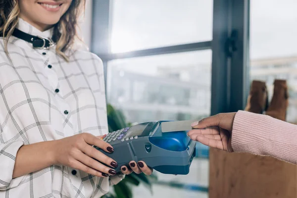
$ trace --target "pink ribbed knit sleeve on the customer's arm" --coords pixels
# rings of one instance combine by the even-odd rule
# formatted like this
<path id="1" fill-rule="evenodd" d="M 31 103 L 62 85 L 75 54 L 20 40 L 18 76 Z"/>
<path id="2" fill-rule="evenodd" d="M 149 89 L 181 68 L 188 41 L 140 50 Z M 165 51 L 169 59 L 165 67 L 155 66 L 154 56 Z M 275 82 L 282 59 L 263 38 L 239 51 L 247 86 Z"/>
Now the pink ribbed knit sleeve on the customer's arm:
<path id="1" fill-rule="evenodd" d="M 269 155 L 297 164 L 297 125 L 238 111 L 233 123 L 232 148 L 235 152 Z"/>

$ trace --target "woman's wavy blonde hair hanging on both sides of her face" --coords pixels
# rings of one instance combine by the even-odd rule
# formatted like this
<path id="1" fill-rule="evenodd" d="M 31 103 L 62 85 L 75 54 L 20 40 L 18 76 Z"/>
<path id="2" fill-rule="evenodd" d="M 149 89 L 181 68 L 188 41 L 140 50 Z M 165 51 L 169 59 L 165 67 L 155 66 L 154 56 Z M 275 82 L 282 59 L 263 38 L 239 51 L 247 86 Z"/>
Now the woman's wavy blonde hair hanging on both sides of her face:
<path id="1" fill-rule="evenodd" d="M 78 37 L 77 24 L 85 10 L 85 4 L 86 0 L 72 0 L 68 10 L 53 26 L 51 39 L 56 43 L 56 52 L 65 60 L 68 60 L 65 51 L 71 49 L 77 39 L 81 40 Z M 8 54 L 8 39 L 17 27 L 19 13 L 18 0 L 0 0 L 0 35 L 4 39 L 6 54 Z"/>

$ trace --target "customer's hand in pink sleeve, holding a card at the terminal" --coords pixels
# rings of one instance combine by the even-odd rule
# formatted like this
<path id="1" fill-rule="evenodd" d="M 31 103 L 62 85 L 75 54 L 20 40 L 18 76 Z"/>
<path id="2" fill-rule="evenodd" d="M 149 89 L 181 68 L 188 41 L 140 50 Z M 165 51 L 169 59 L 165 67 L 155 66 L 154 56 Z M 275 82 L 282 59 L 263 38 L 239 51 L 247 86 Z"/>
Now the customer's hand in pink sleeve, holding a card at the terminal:
<path id="1" fill-rule="evenodd" d="M 231 134 L 236 113 L 220 113 L 192 123 L 188 136 L 203 145 L 233 152 Z M 200 130 L 197 130 L 200 129 Z"/>

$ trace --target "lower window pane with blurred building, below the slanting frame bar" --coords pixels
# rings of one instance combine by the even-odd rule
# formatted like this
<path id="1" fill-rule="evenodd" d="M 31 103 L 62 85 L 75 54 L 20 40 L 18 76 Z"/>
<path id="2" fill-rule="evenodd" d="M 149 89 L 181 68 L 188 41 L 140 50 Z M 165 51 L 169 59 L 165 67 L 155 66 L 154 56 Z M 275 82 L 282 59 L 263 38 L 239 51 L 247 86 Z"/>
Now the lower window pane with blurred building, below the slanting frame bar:
<path id="1" fill-rule="evenodd" d="M 199 50 L 108 62 L 107 101 L 122 109 L 128 122 L 191 120 L 210 115 L 212 51 Z M 188 175 L 157 173 L 153 196 L 207 198 L 208 148 L 197 144 Z M 173 182 L 173 183 L 172 183 Z M 185 189 L 191 189 L 185 190 Z"/>

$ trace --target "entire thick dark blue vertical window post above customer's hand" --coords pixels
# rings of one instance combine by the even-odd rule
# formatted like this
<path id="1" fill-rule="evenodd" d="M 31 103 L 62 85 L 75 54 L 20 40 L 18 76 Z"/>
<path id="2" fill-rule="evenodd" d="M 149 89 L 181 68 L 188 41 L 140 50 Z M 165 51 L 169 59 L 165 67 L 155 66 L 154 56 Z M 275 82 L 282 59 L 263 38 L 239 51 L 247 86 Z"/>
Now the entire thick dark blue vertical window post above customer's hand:
<path id="1" fill-rule="evenodd" d="M 249 0 L 214 0 L 211 114 L 244 109 L 249 88 Z M 236 32 L 233 51 L 227 49 Z"/>

